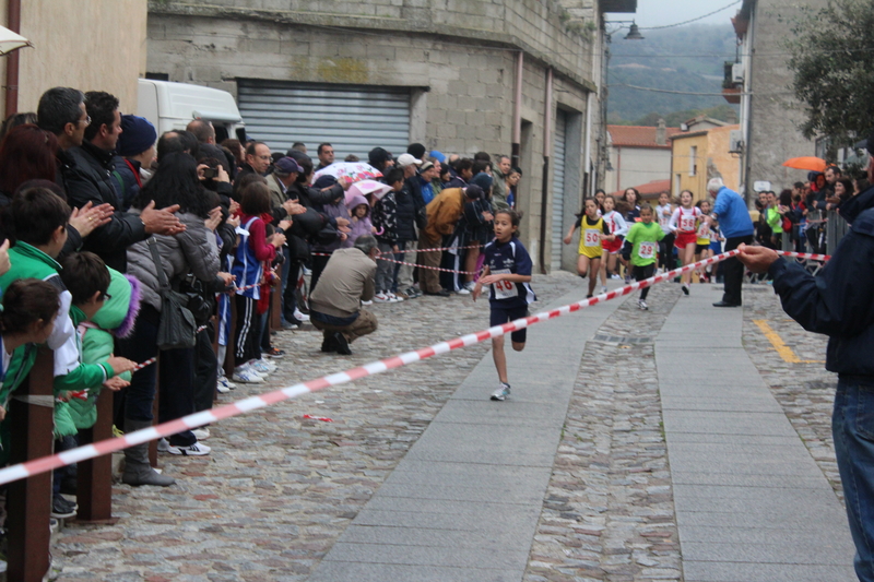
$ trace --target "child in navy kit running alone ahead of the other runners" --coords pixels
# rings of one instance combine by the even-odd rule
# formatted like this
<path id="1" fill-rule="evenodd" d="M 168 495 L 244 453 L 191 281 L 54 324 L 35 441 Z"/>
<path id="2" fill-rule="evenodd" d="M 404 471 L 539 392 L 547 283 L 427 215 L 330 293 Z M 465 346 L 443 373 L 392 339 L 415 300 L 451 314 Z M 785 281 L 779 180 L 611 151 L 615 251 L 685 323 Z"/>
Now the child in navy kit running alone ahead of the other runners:
<path id="1" fill-rule="evenodd" d="M 536 300 L 531 282 L 531 257 L 522 242 L 516 237 L 519 230 L 519 215 L 512 210 L 501 210 L 495 214 L 495 239 L 483 249 L 483 274 L 473 287 L 475 301 L 488 285 L 489 325 L 528 317 L 528 306 Z M 510 334 L 512 348 L 521 352 L 525 347 L 527 329 Z M 507 357 L 504 355 L 504 336 L 492 338 L 492 357 L 498 371 L 498 389 L 492 400 L 503 401 L 510 395 L 507 383 Z"/>

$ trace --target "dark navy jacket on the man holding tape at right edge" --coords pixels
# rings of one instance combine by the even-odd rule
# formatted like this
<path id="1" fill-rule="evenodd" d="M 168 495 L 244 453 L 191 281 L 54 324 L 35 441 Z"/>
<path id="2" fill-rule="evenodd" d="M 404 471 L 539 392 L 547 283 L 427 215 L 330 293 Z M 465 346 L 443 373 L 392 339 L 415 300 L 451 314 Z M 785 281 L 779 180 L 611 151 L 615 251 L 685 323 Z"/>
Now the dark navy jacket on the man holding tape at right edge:
<path id="1" fill-rule="evenodd" d="M 826 369 L 874 382 L 874 187 L 845 201 L 840 214 L 852 226 L 816 276 L 782 258 L 768 273 L 783 310 L 828 335 Z"/>

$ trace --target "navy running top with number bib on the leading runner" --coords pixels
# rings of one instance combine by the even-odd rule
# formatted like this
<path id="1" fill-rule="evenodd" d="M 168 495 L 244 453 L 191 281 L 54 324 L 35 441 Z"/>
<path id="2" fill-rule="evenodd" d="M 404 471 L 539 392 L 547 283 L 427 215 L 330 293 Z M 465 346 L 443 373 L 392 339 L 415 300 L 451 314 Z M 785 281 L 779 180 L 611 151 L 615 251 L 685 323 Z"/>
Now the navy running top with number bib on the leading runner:
<path id="1" fill-rule="evenodd" d="M 488 266 L 489 275 L 531 275 L 533 264 L 522 242 L 512 237 L 507 242 L 493 239 L 483 249 L 483 264 Z M 528 307 L 536 300 L 534 289 L 529 283 L 499 281 L 489 285 L 488 302 L 496 307 Z"/>

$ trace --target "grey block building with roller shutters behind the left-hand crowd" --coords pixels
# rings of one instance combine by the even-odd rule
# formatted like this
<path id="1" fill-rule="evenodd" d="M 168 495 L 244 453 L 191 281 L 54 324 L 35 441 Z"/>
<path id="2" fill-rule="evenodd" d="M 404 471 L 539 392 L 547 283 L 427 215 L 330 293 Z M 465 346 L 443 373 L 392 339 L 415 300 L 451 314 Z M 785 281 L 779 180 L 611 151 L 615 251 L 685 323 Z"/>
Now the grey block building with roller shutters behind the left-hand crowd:
<path id="1" fill-rule="evenodd" d="M 601 4 L 634 11 L 636 0 Z M 310 153 L 320 141 L 338 142 L 338 156 L 366 157 L 377 145 L 397 156 L 410 142 L 447 154 L 516 153 L 521 238 L 540 270 L 572 269 L 554 234 L 597 179 L 603 8 L 598 0 L 154 1 L 147 71 L 229 91 L 248 133 L 274 151 L 299 139 Z M 362 127 L 369 129 L 356 136 Z"/>

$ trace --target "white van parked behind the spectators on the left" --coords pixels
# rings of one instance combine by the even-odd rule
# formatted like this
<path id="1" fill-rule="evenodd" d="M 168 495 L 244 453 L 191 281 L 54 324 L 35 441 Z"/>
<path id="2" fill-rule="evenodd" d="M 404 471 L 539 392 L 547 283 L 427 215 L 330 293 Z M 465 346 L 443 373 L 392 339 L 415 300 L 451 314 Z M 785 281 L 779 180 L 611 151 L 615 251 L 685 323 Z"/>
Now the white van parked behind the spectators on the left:
<path id="1" fill-rule="evenodd" d="M 155 126 L 157 134 L 185 129 L 193 119 L 212 121 L 215 142 L 228 138 L 245 139 L 245 123 L 234 97 L 226 91 L 140 79 L 138 115 Z"/>

